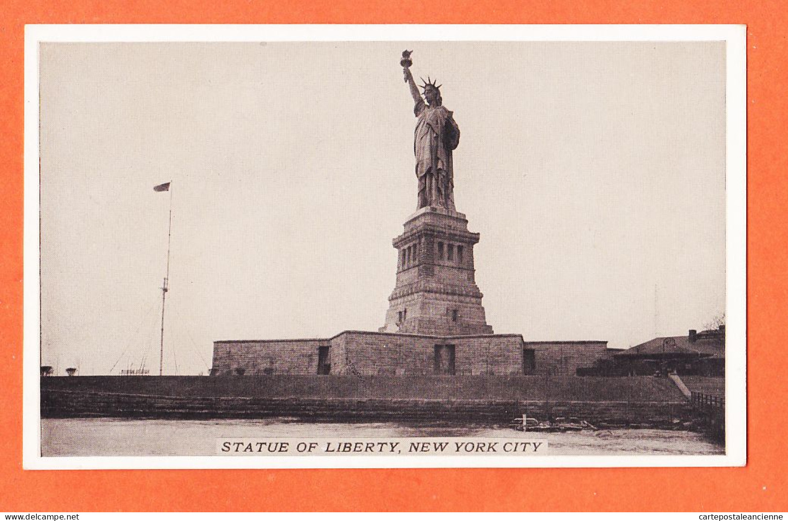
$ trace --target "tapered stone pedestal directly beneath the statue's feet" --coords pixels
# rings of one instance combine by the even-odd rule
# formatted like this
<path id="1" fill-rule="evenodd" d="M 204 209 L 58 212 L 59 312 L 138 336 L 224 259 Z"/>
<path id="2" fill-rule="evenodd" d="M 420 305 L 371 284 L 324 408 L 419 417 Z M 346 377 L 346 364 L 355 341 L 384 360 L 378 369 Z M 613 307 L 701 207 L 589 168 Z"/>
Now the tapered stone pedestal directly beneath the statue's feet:
<path id="1" fill-rule="evenodd" d="M 408 218 L 393 241 L 396 286 L 380 331 L 411 334 L 492 334 L 474 278 L 474 245 L 465 215 L 427 206 Z"/>

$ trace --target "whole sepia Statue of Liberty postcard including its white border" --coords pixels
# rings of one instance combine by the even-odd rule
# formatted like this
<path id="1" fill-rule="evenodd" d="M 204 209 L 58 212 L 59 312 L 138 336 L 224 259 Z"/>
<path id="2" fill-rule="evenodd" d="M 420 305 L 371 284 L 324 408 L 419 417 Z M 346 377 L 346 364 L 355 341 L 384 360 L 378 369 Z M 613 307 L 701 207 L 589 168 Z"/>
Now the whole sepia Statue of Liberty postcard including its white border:
<path id="1" fill-rule="evenodd" d="M 26 468 L 745 464 L 743 26 L 28 26 Z"/>

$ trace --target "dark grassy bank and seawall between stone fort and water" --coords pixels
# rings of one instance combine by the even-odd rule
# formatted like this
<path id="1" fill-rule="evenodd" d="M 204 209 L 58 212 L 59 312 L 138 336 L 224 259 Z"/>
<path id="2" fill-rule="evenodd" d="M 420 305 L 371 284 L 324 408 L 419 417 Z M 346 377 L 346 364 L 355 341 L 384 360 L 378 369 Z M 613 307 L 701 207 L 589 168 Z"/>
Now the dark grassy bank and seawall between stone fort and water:
<path id="1" fill-rule="evenodd" d="M 693 410 L 667 379 L 573 376 L 82 376 L 41 379 L 44 418 L 268 418 L 501 423 L 527 413 L 675 425 Z"/>

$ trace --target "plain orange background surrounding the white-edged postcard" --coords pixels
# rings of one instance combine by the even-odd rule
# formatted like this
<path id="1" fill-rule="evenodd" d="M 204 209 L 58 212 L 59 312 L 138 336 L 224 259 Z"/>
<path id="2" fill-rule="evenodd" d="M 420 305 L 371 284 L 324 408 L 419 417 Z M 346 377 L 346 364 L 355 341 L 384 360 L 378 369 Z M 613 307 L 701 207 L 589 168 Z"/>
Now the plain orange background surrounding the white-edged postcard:
<path id="1" fill-rule="evenodd" d="M 0 510 L 788 510 L 784 2 L 4 2 Z M 747 24 L 749 463 L 742 468 L 22 471 L 24 24 Z M 34 188 L 35 189 L 35 188 Z"/>

